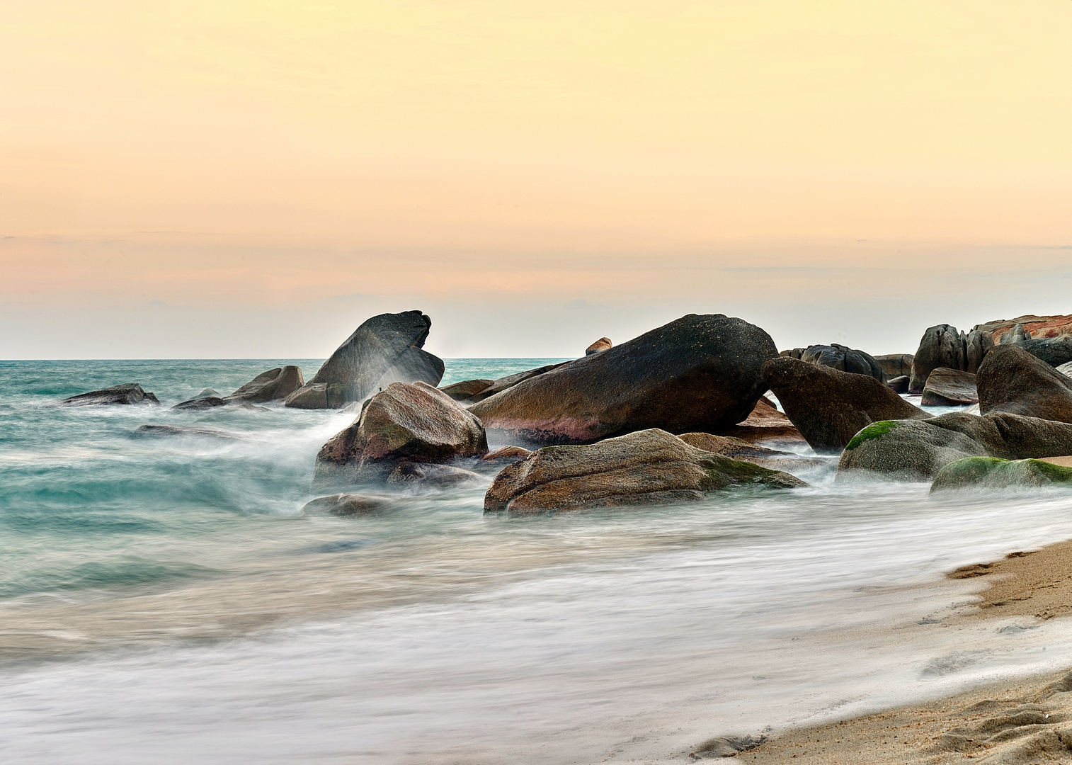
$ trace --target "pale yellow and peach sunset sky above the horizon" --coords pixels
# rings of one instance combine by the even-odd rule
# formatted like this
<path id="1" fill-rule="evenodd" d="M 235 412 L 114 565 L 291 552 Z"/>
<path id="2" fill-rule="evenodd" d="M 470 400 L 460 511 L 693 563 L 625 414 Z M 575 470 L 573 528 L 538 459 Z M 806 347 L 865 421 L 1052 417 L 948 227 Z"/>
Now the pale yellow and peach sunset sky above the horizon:
<path id="1" fill-rule="evenodd" d="M 1072 312 L 1072 0 L 2 9 L 0 358 Z"/>

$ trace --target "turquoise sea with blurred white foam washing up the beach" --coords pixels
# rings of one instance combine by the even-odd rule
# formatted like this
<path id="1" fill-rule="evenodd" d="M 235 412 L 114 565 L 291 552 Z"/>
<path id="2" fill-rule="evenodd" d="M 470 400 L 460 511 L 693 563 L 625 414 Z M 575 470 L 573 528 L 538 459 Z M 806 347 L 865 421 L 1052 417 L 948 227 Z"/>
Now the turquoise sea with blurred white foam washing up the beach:
<path id="1" fill-rule="evenodd" d="M 353 414 L 170 410 L 322 361 L 0 362 L 0 759 L 682 762 L 1072 664 L 1061 620 L 949 623 L 981 585 L 943 578 L 1067 539 L 1056 489 L 831 465 L 669 507 L 486 516 L 477 488 L 307 516 Z M 443 384 L 556 361 L 446 359 Z M 55 406 L 122 382 L 163 406 Z"/>

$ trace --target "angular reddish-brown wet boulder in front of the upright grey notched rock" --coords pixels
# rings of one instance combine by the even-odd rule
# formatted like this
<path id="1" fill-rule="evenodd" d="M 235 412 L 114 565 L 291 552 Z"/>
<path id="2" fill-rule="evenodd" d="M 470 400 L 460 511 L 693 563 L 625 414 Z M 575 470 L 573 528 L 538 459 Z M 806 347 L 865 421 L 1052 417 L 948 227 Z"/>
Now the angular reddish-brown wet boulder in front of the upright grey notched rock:
<path id="1" fill-rule="evenodd" d="M 422 382 L 392 383 L 316 455 L 314 486 L 384 483 L 400 462 L 446 462 L 488 453 L 480 421 Z"/>

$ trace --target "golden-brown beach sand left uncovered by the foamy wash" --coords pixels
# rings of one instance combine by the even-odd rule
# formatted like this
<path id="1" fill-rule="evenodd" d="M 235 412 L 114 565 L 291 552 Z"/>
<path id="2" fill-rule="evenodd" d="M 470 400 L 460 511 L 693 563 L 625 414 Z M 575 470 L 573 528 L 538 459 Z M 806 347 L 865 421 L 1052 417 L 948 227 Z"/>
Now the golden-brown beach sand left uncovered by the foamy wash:
<path id="1" fill-rule="evenodd" d="M 1072 616 L 1072 541 L 966 565 L 950 578 L 987 577 L 981 600 L 953 617 L 971 621 Z M 755 745 L 712 739 L 691 759 L 735 754 L 747 763 L 819 765 L 1072 762 L 1072 672 L 976 688 L 936 702 L 787 731 Z"/>

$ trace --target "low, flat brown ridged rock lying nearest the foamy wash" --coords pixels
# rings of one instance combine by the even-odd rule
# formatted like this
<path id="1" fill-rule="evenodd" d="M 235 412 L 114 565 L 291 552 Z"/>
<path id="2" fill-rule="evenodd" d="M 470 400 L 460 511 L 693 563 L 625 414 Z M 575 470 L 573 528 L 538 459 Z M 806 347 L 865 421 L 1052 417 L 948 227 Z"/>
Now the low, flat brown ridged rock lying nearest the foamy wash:
<path id="1" fill-rule="evenodd" d="M 700 500 L 730 486 L 806 485 L 787 473 L 704 452 L 652 428 L 586 446 L 534 452 L 495 477 L 483 510 L 533 513 L 672 504 Z"/>

